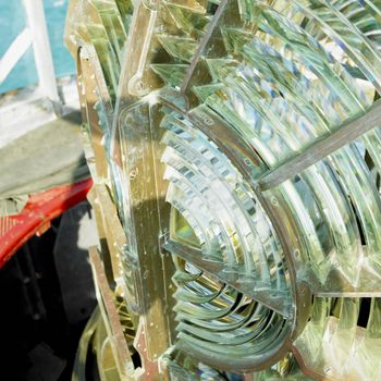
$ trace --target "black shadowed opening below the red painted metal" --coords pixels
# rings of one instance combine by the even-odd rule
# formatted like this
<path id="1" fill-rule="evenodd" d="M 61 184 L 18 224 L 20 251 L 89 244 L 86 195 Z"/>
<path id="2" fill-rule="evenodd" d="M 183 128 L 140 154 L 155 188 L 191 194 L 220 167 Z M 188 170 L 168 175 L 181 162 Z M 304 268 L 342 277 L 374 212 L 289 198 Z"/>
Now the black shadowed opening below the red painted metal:
<path id="1" fill-rule="evenodd" d="M 96 305 L 81 202 L 29 239 L 0 271 L 3 380 L 71 380 L 82 331 Z M 7 374 L 7 376 L 5 376 Z"/>

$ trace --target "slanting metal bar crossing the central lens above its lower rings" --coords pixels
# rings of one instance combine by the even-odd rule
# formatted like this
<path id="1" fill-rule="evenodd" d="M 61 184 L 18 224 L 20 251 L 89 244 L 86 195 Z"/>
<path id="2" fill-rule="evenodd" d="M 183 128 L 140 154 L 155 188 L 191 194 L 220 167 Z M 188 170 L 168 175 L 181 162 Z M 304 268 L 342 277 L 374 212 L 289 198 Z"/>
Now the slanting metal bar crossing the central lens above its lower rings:
<path id="1" fill-rule="evenodd" d="M 169 241 L 162 245 L 163 249 L 176 255 L 184 260 L 198 267 L 201 271 L 211 274 L 219 279 L 222 283 L 230 285 L 236 291 L 245 294 L 251 299 L 262 304 L 263 306 L 272 309 L 273 311 L 282 315 L 286 319 L 292 318 L 291 300 L 284 292 L 279 290 L 256 290 L 253 283 L 239 282 L 238 280 L 232 281 L 228 279 L 228 274 L 224 274 L 223 263 L 211 262 L 204 260 L 201 251 L 195 247 L 184 245 L 179 242 Z"/>

